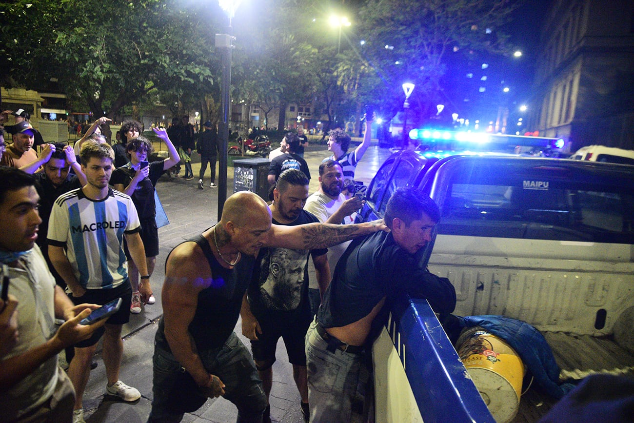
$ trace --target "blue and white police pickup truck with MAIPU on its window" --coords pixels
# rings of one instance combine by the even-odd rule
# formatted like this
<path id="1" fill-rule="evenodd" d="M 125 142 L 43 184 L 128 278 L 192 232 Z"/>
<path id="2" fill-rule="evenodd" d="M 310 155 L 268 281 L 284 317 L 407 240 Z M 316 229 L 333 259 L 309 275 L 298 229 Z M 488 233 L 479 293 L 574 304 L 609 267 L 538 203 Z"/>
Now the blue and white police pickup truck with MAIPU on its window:
<path id="1" fill-rule="evenodd" d="M 396 188 L 421 188 L 441 221 L 420 265 L 451 280 L 456 315 L 533 325 L 562 380 L 633 375 L 634 167 L 426 156 L 389 157 L 368 186 L 363 218 L 381 218 Z M 373 345 L 376 421 L 495 422 L 427 301 L 406 303 Z M 556 402 L 529 384 L 511 421 L 537 421 Z"/>

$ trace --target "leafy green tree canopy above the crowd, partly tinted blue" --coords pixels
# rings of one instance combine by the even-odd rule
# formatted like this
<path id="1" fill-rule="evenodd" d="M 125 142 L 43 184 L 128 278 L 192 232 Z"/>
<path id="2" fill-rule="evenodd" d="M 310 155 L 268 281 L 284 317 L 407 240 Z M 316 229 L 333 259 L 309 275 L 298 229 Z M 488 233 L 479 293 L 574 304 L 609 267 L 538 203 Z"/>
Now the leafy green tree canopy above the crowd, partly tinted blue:
<path id="1" fill-rule="evenodd" d="M 280 125 L 289 103 L 312 104 L 330 122 L 358 121 L 367 103 L 385 117 L 396 114 L 401 84 L 411 81 L 417 86 L 413 107 L 425 112 L 453 95 L 445 89 L 455 86 L 448 79 L 465 60 L 480 52 L 507 53 L 499 29 L 514 3 L 250 3 L 242 11 L 250 20 L 236 32 L 232 99 L 266 114 L 279 108 Z M 352 25 L 330 27 L 330 13 L 350 16 Z M 141 101 L 173 109 L 202 104 L 210 116 L 219 103 L 220 58 L 213 40 L 224 31 L 226 16 L 217 4 L 18 0 L 0 3 L 0 14 L 10 23 L 0 28 L 4 86 L 41 86 L 55 78 L 68 98 L 96 116 Z"/>

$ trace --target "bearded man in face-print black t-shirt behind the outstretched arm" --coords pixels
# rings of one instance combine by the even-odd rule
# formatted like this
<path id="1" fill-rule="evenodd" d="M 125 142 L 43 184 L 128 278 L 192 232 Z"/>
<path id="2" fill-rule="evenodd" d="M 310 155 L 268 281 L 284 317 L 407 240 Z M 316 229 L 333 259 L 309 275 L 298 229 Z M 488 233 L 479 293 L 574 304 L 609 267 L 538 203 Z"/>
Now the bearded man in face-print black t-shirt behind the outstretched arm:
<path id="1" fill-rule="evenodd" d="M 308 197 L 308 178 L 302 171 L 281 172 L 273 189 L 273 223 L 304 225 L 318 222 L 303 207 Z M 251 340 L 257 373 L 268 401 L 273 385 L 273 363 L 278 339 L 282 337 L 293 365 L 293 377 L 299 390 L 301 410 L 308 421 L 308 386 L 304 336 L 313 320 L 308 301 L 308 256 L 313 263 L 321 292 L 330 282 L 327 249 L 294 250 L 262 248 L 256 259 L 249 289 L 242 301 L 242 334 Z M 269 422 L 270 405 L 262 421 Z"/>

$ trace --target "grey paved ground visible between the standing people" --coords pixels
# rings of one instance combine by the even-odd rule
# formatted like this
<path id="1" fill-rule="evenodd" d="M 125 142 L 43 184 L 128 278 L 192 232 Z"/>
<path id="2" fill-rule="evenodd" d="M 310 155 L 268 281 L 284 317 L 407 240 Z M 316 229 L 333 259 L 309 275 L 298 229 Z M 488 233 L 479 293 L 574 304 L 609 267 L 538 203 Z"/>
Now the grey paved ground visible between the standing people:
<path id="1" fill-rule="evenodd" d="M 373 144 L 366 152 L 357 168 L 357 179 L 366 185 L 377 172 L 390 152 Z M 327 157 L 325 146 L 310 146 L 304 155 L 311 170 L 310 192 L 318 188 L 318 167 Z M 194 154 L 193 172 L 197 176 L 200 169 L 199 159 Z M 183 169 L 184 170 L 184 169 Z M 182 171 L 181 170 L 181 174 Z M 120 379 L 136 387 L 141 399 L 135 403 L 124 403 L 117 397 L 106 394 L 106 375 L 100 353 L 95 361 L 98 367 L 91 372 L 84 393 L 84 411 L 87 422 L 145 422 L 150 414 L 152 401 L 152 354 L 157 323 L 162 315 L 161 293 L 165 276 L 164 264 L 167 254 L 176 245 L 193 235 L 201 233 L 216 223 L 217 188 L 209 188 L 209 170 L 204 181 L 204 190 L 198 189 L 198 178 L 185 181 L 181 178 L 162 177 L 157 184 L 157 192 L 170 220 L 170 224 L 159 229 L 160 252 L 157 266 L 152 275 L 152 289 L 157 298 L 156 304 L 145 306 L 139 315 L 131 315 L 130 322 L 124 326 L 124 356 Z M 217 183 L 217 181 L 216 181 Z M 233 192 L 233 169 L 228 169 L 228 195 Z M 242 342 L 250 346 L 242 336 L 241 323 L 238 320 L 235 329 Z M 63 353 L 60 355 L 63 361 Z M 273 389 L 271 390 L 271 419 L 276 422 L 303 422 L 299 409 L 300 397 L 295 387 L 292 366 L 288 363 L 283 342 L 280 339 L 277 349 L 277 361 L 273 365 Z M 183 422 L 228 423 L 235 422 L 237 410 L 224 398 L 208 400 L 197 412 L 187 414 Z"/>

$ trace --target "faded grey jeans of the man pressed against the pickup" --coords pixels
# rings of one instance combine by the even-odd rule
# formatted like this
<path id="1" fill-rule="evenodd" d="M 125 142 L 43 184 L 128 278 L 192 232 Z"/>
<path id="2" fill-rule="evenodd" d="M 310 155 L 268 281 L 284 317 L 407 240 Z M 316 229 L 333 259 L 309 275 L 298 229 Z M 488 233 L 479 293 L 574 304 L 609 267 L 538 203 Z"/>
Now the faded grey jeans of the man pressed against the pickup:
<path id="1" fill-rule="evenodd" d="M 328 342 L 317 333 L 313 320 L 306 334 L 308 403 L 311 422 L 357 422 L 363 418 L 358 404 L 361 355 L 327 350 Z M 363 408 L 363 407 L 361 407 Z"/>

